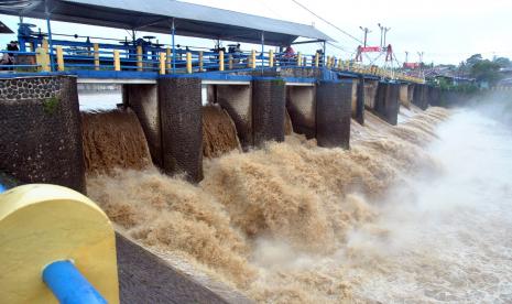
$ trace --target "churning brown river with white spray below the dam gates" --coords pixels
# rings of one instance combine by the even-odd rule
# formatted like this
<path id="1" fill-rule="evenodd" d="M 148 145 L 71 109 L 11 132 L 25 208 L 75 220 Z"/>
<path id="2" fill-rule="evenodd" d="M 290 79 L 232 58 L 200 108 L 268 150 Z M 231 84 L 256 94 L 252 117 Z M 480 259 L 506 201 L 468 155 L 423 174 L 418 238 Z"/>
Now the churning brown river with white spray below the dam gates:
<path id="1" fill-rule="evenodd" d="M 199 185 L 149 165 L 90 173 L 88 194 L 120 232 L 257 302 L 512 302 L 512 128 L 492 110 L 401 111 L 399 127 L 352 122 L 350 151 L 293 134 L 205 159 Z M 118 133 L 85 132 L 90 151 Z M 111 163 L 117 146 L 134 144 Z"/>

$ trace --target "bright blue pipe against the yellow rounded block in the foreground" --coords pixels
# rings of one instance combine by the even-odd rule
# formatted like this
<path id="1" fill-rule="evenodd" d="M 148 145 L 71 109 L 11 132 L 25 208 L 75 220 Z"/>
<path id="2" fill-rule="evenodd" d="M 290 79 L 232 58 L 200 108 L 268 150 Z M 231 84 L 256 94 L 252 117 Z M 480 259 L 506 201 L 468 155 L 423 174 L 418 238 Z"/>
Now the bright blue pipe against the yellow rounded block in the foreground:
<path id="1" fill-rule="evenodd" d="M 56 261 L 46 265 L 43 281 L 61 304 L 108 303 L 70 261 Z"/>

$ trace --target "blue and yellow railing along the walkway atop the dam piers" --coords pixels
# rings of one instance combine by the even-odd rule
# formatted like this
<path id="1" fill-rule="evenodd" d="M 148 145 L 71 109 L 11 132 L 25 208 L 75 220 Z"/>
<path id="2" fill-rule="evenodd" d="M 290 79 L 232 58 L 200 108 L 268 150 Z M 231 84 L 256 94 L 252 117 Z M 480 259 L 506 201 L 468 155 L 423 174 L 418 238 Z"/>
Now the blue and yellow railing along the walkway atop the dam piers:
<path id="1" fill-rule="evenodd" d="M 232 50 L 231 50 L 232 51 Z M 10 53 L 14 57 L 11 65 L 0 69 L 13 72 L 52 70 L 111 70 L 150 72 L 157 74 L 192 74 L 213 70 L 240 70 L 265 67 L 326 67 L 335 72 L 349 72 L 372 75 L 380 78 L 423 83 L 421 78 L 407 76 L 392 69 L 361 65 L 353 61 L 342 61 L 323 54 L 286 52 L 257 52 L 224 50 L 198 51 L 162 45 L 133 45 L 131 42 L 90 43 L 54 40 L 52 46 L 43 40 L 32 52 L 0 51 L 0 56 Z"/>

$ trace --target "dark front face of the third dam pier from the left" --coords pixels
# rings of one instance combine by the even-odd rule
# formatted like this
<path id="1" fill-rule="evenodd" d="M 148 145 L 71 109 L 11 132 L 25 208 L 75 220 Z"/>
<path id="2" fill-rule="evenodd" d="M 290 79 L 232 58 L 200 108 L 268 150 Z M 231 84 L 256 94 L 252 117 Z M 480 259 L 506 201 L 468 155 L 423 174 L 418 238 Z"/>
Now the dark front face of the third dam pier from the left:
<path id="1" fill-rule="evenodd" d="M 252 128 L 254 145 L 284 141 L 286 90 L 283 80 L 252 82 Z"/>

